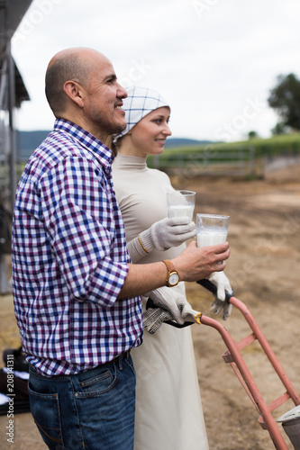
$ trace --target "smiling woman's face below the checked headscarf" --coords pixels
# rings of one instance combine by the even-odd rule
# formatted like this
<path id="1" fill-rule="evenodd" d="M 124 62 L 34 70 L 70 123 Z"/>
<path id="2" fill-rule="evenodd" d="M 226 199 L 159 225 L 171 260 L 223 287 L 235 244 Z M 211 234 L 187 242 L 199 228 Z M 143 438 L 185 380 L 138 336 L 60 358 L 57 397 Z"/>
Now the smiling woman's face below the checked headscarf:
<path id="1" fill-rule="evenodd" d="M 132 154 L 137 157 L 160 155 L 171 130 L 168 128 L 169 109 L 162 106 L 147 114 L 130 131 Z"/>

